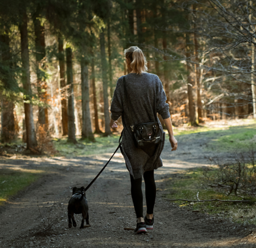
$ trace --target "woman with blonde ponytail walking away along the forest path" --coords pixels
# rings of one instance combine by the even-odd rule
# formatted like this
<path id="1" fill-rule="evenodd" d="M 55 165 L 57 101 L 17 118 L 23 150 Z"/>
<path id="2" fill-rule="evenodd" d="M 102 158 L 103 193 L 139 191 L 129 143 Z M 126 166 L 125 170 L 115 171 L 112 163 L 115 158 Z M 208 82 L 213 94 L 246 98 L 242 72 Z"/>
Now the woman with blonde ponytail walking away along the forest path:
<path id="1" fill-rule="evenodd" d="M 146 59 L 138 47 L 125 50 L 130 74 L 117 81 L 111 103 L 110 127 L 117 128 L 122 116 L 122 155 L 130 172 L 131 197 L 137 216 L 134 233 L 146 233 L 153 229 L 156 186 L 154 169 L 161 167 L 161 152 L 165 144 L 165 132 L 158 120 L 159 113 L 169 132 L 171 151 L 178 147 L 173 135 L 169 105 L 162 83 L 157 75 L 147 73 Z M 147 213 L 143 218 L 142 176 L 145 181 Z"/>

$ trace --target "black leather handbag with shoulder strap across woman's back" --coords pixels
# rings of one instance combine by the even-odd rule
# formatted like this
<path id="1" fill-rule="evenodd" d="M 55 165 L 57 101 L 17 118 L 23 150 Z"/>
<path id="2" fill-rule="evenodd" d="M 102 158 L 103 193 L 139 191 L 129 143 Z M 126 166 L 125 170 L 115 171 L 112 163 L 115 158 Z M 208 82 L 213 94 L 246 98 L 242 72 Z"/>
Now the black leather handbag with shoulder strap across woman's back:
<path id="1" fill-rule="evenodd" d="M 123 77 L 123 88 L 125 92 L 125 99 L 128 107 L 128 118 L 129 123 L 131 124 L 131 131 L 134 135 L 134 143 L 136 147 L 138 148 L 145 148 L 145 147 L 151 147 L 153 145 L 157 145 L 161 143 L 163 131 L 159 127 L 159 123 L 157 120 L 157 116 L 155 116 L 154 121 L 149 121 L 147 123 L 141 123 L 137 125 L 133 125 L 131 123 L 131 117 L 130 117 L 130 109 L 129 109 L 129 101 L 127 100 L 127 90 L 126 90 L 126 82 L 125 82 L 125 76 Z M 156 111 L 154 113 L 156 115 Z"/>

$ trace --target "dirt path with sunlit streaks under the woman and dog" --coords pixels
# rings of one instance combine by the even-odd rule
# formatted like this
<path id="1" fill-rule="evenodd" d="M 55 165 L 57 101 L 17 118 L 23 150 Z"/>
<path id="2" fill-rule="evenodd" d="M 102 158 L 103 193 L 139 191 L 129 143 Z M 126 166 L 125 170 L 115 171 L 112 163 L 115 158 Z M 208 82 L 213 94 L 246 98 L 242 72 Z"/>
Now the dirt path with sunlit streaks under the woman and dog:
<path id="1" fill-rule="evenodd" d="M 255 138 L 255 123 L 250 121 L 177 129 L 178 150 L 171 152 L 166 142 L 161 156 L 164 166 L 155 170 L 154 230 L 142 235 L 124 230 L 134 227 L 136 218 L 129 172 L 120 152 L 86 193 L 91 227 L 79 229 L 80 215 L 75 216 L 76 228 L 67 225 L 71 187 L 86 186 L 109 160 L 114 147 L 86 156 L 1 156 L 0 172 L 21 170 L 43 176 L 0 206 L 0 247 L 256 247 L 254 225 L 192 212 L 165 201 L 172 174 L 207 166 L 216 153 L 231 156 L 229 149 L 235 147 L 230 140 L 245 135 L 239 125 L 248 129 L 243 132 L 249 139 Z M 243 144 L 242 139 L 239 142 Z"/>

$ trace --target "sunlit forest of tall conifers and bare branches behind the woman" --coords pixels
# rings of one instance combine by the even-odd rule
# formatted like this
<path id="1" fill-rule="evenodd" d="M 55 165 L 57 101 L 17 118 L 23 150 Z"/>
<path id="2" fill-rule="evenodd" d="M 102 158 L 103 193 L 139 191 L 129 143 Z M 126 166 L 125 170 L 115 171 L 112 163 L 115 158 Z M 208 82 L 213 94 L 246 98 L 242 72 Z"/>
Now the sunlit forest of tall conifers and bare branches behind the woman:
<path id="1" fill-rule="evenodd" d="M 37 153 L 46 136 L 110 135 L 130 46 L 161 79 L 175 127 L 255 119 L 255 8 L 244 0 L 1 1 L 1 142 L 22 137 Z"/>

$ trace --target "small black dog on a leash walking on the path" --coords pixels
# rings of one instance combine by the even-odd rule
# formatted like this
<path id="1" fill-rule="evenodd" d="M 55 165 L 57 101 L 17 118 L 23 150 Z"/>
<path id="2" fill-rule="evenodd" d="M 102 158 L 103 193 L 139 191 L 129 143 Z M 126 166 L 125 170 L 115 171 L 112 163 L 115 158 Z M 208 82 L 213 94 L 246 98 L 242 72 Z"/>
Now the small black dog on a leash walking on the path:
<path id="1" fill-rule="evenodd" d="M 74 214 L 82 214 L 83 219 L 80 228 L 83 228 L 83 223 L 90 225 L 89 223 L 89 213 L 88 213 L 88 204 L 85 196 L 85 187 L 77 188 L 74 187 L 72 197 L 69 200 L 69 205 L 67 206 L 67 214 L 69 216 L 69 228 L 72 227 L 71 219 L 73 226 L 76 227 L 77 223 L 74 219 Z"/>

